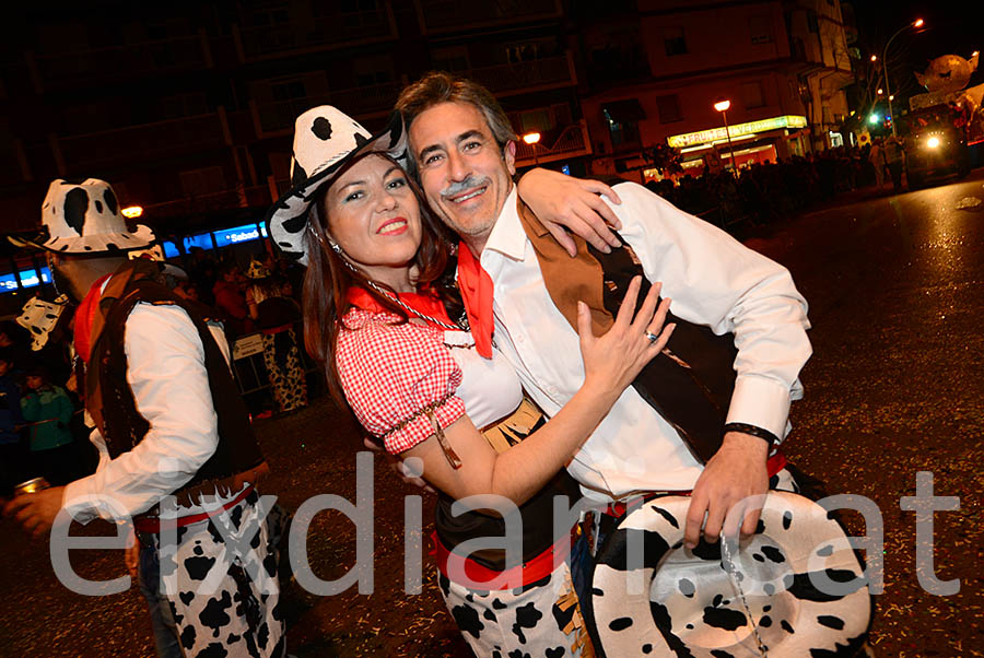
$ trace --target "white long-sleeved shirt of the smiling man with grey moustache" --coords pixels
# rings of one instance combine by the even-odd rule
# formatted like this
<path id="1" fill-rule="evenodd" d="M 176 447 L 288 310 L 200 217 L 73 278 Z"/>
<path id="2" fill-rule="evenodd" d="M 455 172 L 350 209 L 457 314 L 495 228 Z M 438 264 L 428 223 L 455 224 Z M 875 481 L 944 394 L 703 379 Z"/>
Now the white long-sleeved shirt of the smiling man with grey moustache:
<path id="1" fill-rule="evenodd" d="M 733 331 L 737 380 L 727 422 L 789 431 L 789 403 L 803 397 L 799 371 L 811 354 L 806 299 L 789 272 L 725 232 L 682 212 L 642 186 L 618 186 L 620 234 L 673 314 Z M 516 210 L 516 189 L 481 255 L 495 296 L 495 344 L 524 387 L 555 414 L 584 381 L 577 332 L 553 305 Z M 621 498 L 642 491 L 683 491 L 701 473 L 676 431 L 629 387 L 567 466 L 585 495 Z"/>

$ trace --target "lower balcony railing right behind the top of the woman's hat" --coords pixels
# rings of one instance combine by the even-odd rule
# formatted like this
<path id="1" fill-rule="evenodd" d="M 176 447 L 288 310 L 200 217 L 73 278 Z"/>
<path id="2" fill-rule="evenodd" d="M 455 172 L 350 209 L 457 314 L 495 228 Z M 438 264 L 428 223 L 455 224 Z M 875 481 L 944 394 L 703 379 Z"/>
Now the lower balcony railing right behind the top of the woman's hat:
<path id="1" fill-rule="evenodd" d="M 260 136 L 293 130 L 294 119 L 318 105 L 333 105 L 352 116 L 388 113 L 396 104 L 402 82 L 336 90 L 328 94 L 291 98 L 256 105 L 257 132 Z"/>

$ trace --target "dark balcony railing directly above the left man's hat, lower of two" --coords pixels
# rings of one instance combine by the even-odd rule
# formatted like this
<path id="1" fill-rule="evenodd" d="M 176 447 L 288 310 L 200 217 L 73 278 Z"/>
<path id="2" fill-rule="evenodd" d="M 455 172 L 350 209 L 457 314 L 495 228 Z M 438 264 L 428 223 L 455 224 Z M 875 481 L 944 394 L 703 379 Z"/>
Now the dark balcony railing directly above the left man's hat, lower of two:
<path id="1" fill-rule="evenodd" d="M 67 172 L 89 172 L 96 166 L 150 162 L 192 151 L 227 145 L 227 125 L 222 113 L 183 117 L 157 124 L 128 126 L 52 139 L 56 160 Z"/>

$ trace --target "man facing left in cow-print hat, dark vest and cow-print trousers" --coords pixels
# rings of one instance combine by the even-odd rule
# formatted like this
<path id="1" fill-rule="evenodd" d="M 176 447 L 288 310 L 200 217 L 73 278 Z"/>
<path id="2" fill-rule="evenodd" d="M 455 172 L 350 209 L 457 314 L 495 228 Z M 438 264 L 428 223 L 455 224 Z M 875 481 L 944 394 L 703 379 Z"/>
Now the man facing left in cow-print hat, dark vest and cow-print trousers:
<path id="1" fill-rule="evenodd" d="M 132 519 L 141 568 L 160 563 L 185 656 L 283 656 L 274 538 L 255 490 L 266 462 L 223 348 L 197 309 L 156 281 L 159 265 L 128 261 L 124 251 L 153 234 L 127 228 L 108 184 L 56 180 L 42 216 L 47 239 L 23 244 L 46 251 L 56 282 L 80 303 L 74 345 L 99 465 L 17 496 L 4 514 L 35 534 L 65 513 Z"/>

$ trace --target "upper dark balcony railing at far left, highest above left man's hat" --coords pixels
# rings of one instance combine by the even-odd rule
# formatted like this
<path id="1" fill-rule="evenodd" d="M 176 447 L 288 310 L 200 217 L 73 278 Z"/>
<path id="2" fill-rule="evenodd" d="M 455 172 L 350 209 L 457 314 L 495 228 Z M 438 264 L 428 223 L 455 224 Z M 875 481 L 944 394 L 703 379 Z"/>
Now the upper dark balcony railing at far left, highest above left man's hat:
<path id="1" fill-rule="evenodd" d="M 129 44 L 113 48 L 43 55 L 27 54 L 36 91 L 93 79 L 119 79 L 211 66 L 203 35 Z"/>

